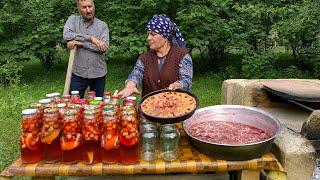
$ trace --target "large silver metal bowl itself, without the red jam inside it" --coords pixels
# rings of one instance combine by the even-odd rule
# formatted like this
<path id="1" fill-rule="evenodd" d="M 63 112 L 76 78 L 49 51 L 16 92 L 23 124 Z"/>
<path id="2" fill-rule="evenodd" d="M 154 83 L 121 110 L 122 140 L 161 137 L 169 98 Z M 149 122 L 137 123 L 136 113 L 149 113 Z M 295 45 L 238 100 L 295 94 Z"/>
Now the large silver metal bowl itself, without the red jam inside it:
<path id="1" fill-rule="evenodd" d="M 264 130 L 270 138 L 250 144 L 216 144 L 193 137 L 189 127 L 203 121 L 228 121 L 250 125 Z M 257 108 L 240 105 L 217 105 L 198 109 L 192 117 L 183 122 L 183 129 L 191 145 L 199 152 L 215 159 L 249 160 L 261 157 L 271 149 L 275 137 L 279 134 L 281 124 L 269 113 Z"/>

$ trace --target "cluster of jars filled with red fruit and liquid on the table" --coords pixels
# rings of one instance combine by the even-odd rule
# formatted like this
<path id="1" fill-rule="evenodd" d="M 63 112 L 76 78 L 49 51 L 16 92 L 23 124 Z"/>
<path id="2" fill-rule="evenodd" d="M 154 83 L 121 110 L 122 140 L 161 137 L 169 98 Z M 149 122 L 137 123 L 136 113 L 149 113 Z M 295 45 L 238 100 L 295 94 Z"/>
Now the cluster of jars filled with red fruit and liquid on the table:
<path id="1" fill-rule="evenodd" d="M 102 158 L 105 159 L 104 162 L 106 163 L 118 162 L 119 160 L 125 164 L 138 162 L 138 150 L 135 151 L 134 160 L 132 160 L 133 157 L 128 156 L 133 151 L 132 149 L 135 148 L 133 145 L 138 148 L 138 129 L 124 128 L 122 130 L 122 128 L 119 128 L 124 126 L 123 124 L 129 124 L 130 127 L 132 124 L 138 125 L 136 116 L 127 117 L 128 115 L 136 115 L 135 109 L 131 108 L 131 112 L 123 116 L 126 119 L 120 121 L 120 105 L 118 102 L 115 103 L 115 106 L 106 106 L 104 111 L 101 110 L 102 106 L 100 105 L 97 108 L 94 105 L 78 106 L 77 104 L 69 104 L 69 109 L 60 108 L 59 113 L 56 108 L 53 108 L 54 105 L 52 103 L 48 103 L 46 105 L 47 108 L 40 106 L 39 110 L 24 110 L 22 112 L 23 134 L 20 137 L 22 161 L 24 163 L 33 163 L 44 159 L 45 162 L 50 163 L 59 160 L 59 157 L 61 157 L 62 162 L 65 163 L 73 163 L 83 159 L 88 164 L 92 164 L 100 162 L 102 156 L 106 157 Z M 132 103 L 132 105 L 134 104 Z M 128 123 L 128 119 L 132 122 L 134 121 L 134 123 Z M 110 123 L 112 121 L 115 123 Z M 129 131 L 127 132 L 126 130 Z M 118 136 L 118 131 L 126 136 Z M 101 141 L 100 137 L 102 137 Z M 121 138 L 123 139 L 122 141 Z M 119 144 L 125 147 L 120 148 Z M 103 151 L 103 149 L 107 152 Z M 117 149 L 118 156 L 111 155 L 112 152 L 110 150 L 113 149 Z M 123 153 L 121 153 L 121 149 L 123 149 Z M 124 155 L 123 158 L 121 158 L 121 154 Z M 43 155 L 44 157 L 42 157 Z M 118 160 L 108 160 L 107 156 L 117 157 Z"/>

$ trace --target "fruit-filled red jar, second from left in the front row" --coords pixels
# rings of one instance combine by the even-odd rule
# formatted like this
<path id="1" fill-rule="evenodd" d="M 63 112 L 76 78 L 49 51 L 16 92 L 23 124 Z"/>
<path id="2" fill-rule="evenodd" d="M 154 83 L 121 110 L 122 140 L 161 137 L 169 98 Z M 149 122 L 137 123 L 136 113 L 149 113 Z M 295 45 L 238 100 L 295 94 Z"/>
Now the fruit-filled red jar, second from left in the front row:
<path id="1" fill-rule="evenodd" d="M 45 163 L 54 163 L 60 160 L 60 122 L 58 109 L 47 108 L 44 110 L 41 142 Z"/>

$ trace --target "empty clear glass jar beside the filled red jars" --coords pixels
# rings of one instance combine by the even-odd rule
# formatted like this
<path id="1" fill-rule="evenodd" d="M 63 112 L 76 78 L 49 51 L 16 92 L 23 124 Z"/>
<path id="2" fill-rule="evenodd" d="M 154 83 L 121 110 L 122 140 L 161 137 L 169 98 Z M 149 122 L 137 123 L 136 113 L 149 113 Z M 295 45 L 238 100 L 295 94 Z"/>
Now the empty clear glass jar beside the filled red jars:
<path id="1" fill-rule="evenodd" d="M 154 161 L 158 154 L 158 130 L 155 124 L 140 125 L 140 158 L 144 161 Z"/>

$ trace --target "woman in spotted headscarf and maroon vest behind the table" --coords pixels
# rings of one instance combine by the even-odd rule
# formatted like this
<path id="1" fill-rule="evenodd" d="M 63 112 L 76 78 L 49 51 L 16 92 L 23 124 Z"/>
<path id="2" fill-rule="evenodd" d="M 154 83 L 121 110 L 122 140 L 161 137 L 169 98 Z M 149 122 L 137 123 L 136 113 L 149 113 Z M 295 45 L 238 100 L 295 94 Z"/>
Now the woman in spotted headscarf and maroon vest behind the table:
<path id="1" fill-rule="evenodd" d="M 147 36 L 149 50 L 139 56 L 119 95 L 140 94 L 139 84 L 142 84 L 142 96 L 164 88 L 189 90 L 192 59 L 176 23 L 165 14 L 154 15 L 148 22 Z"/>

